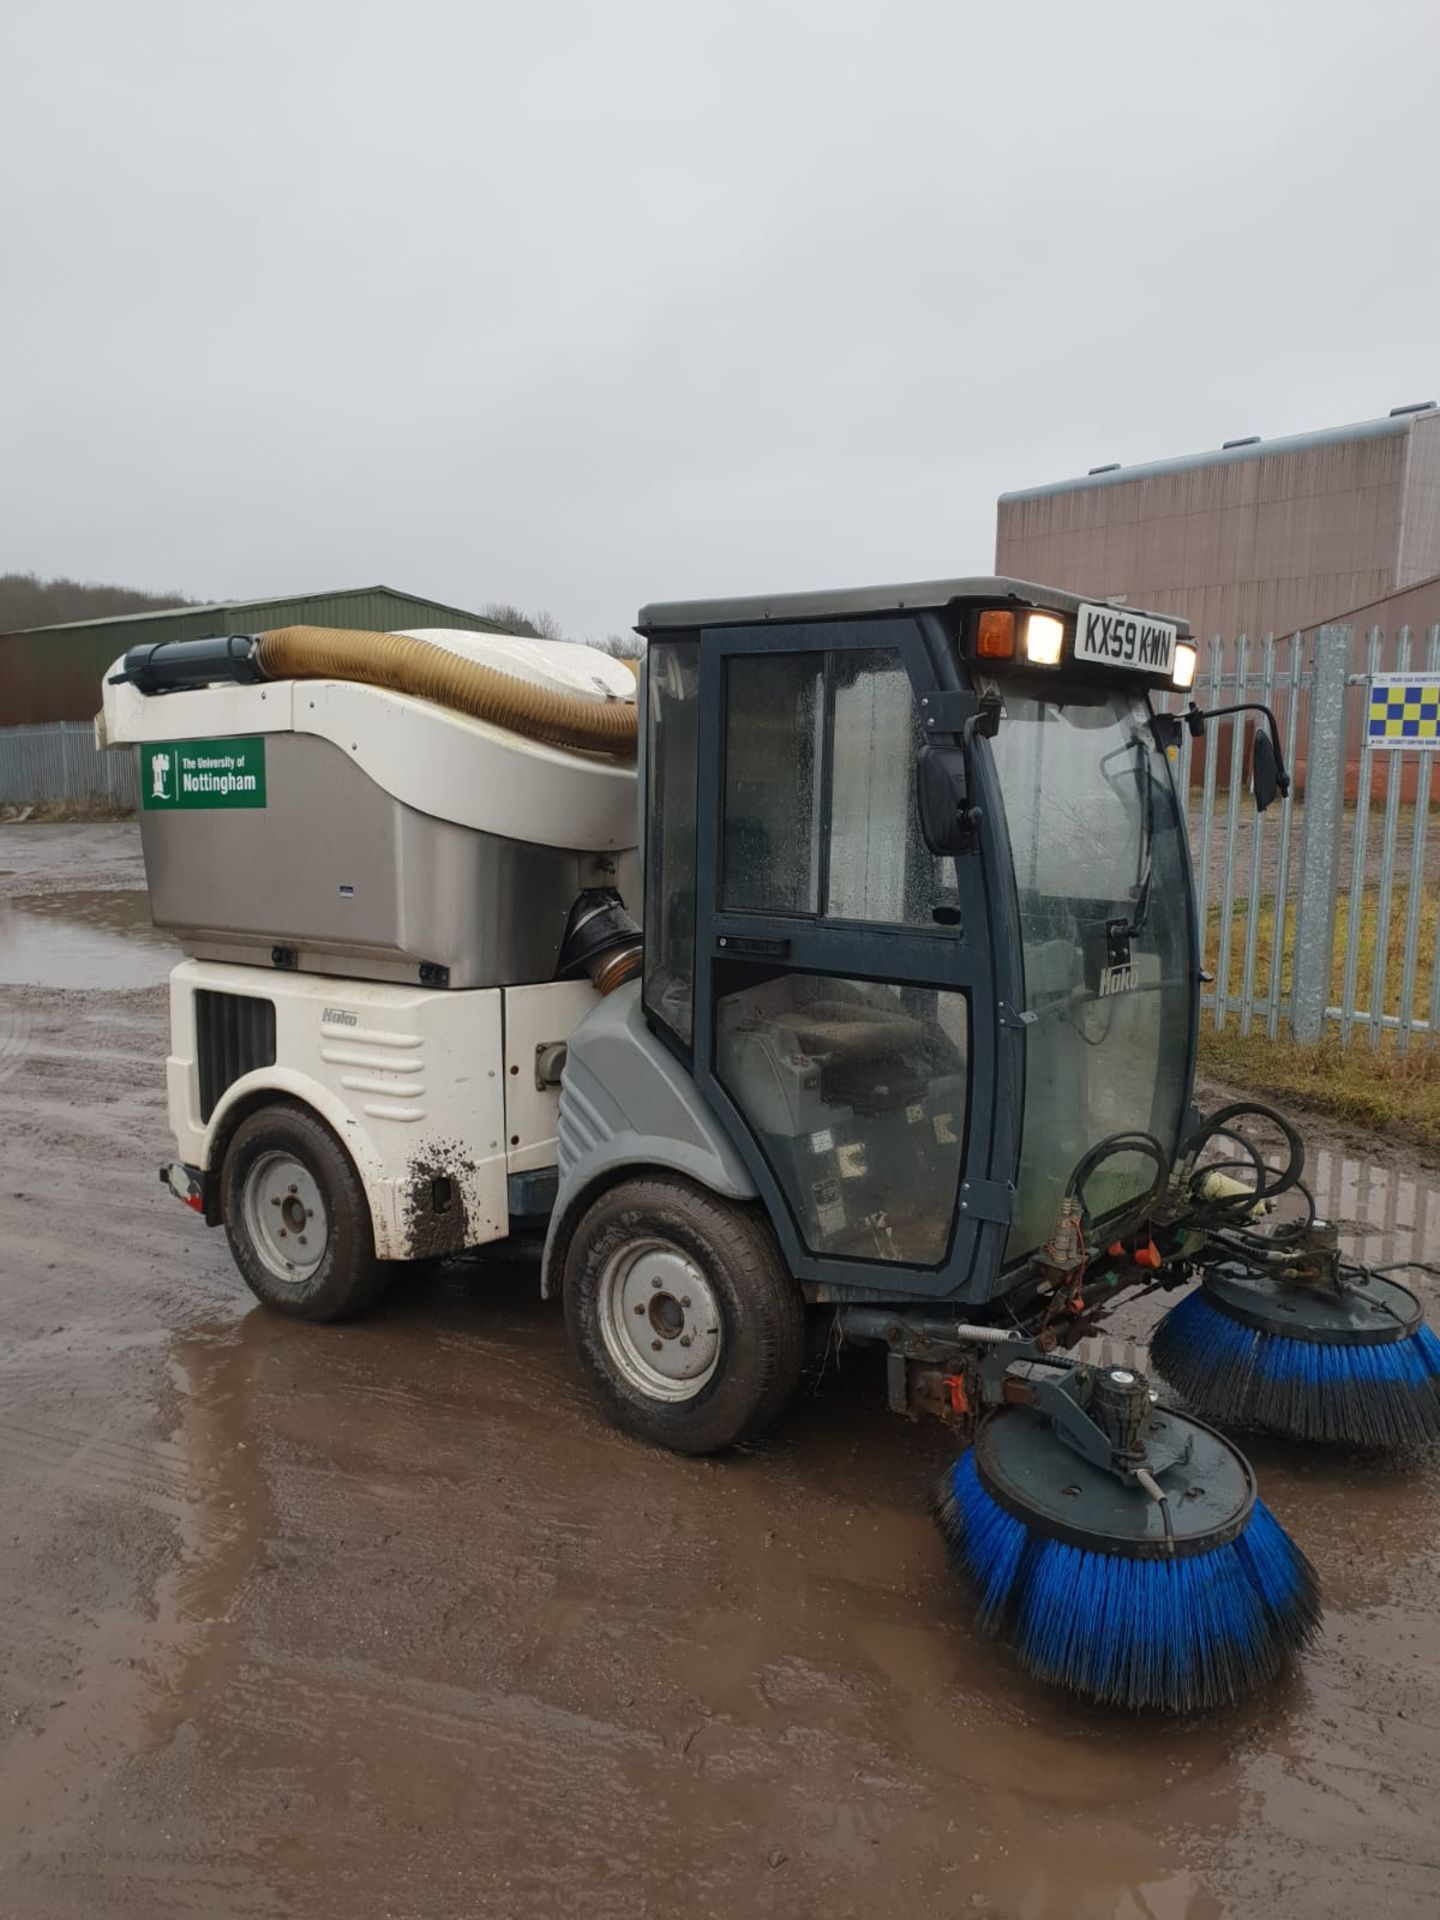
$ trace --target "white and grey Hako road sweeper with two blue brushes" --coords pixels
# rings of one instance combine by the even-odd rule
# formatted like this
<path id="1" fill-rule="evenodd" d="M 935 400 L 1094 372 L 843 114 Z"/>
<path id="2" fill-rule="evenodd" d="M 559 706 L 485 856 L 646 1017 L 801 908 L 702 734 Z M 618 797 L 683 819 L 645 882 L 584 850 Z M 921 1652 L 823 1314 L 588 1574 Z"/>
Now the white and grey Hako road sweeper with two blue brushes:
<path id="1" fill-rule="evenodd" d="M 973 578 L 637 628 L 639 685 L 447 630 L 117 662 L 188 956 L 163 1179 L 307 1319 L 543 1229 L 611 1413 L 685 1452 L 778 1417 L 806 1323 L 877 1342 L 966 1442 L 983 1626 L 1102 1701 L 1240 1697 L 1317 1594 L 1204 1417 L 1428 1440 L 1440 1342 L 1340 1258 L 1281 1116 L 1192 1108 L 1183 622 Z M 1156 1288 L 1185 1409 L 1085 1357 Z"/>

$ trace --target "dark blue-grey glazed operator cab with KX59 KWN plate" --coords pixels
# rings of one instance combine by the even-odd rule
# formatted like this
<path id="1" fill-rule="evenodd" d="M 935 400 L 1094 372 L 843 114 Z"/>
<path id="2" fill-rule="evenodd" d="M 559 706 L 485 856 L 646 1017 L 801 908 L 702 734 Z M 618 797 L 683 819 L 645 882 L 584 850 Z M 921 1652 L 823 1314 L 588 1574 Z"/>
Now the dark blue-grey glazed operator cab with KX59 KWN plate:
<path id="1" fill-rule="evenodd" d="M 1175 1156 L 1183 622 L 977 578 L 647 607 L 645 1018 L 812 1300 L 1021 1286 L 1083 1156 Z M 1158 1177 L 1110 1152 L 1092 1217 Z"/>

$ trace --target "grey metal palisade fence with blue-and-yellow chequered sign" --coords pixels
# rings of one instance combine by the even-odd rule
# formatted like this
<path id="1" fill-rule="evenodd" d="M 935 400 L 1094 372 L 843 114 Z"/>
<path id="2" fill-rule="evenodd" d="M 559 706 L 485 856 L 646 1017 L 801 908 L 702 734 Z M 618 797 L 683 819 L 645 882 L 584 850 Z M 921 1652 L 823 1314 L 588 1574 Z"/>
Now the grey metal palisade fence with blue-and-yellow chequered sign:
<path id="1" fill-rule="evenodd" d="M 1179 712 L 1188 697 L 1171 699 Z M 1200 708 L 1275 712 L 1290 795 L 1250 799 L 1254 714 L 1183 735 L 1204 1020 L 1298 1041 L 1400 1050 L 1440 1033 L 1440 626 L 1348 626 L 1202 647 Z"/>

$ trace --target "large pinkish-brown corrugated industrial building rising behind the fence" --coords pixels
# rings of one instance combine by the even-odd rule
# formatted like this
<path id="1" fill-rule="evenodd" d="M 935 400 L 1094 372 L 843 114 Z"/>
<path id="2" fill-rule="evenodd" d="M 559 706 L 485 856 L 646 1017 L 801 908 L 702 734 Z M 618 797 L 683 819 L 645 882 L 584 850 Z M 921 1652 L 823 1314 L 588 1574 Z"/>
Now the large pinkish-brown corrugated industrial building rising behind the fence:
<path id="1" fill-rule="evenodd" d="M 995 570 L 1183 614 L 1202 637 L 1440 620 L 1440 409 L 1002 493 Z"/>

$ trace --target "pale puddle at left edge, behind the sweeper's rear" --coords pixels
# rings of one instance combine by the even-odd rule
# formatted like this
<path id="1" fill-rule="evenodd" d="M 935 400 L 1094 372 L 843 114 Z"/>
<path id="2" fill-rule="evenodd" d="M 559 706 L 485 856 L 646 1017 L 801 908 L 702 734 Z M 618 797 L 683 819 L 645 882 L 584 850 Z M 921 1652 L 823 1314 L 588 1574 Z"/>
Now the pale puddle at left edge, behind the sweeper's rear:
<path id="1" fill-rule="evenodd" d="M 138 889 L 0 902 L 0 987 L 157 987 L 179 958 Z"/>

